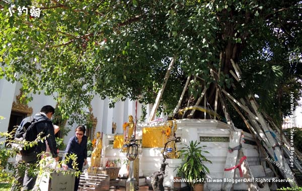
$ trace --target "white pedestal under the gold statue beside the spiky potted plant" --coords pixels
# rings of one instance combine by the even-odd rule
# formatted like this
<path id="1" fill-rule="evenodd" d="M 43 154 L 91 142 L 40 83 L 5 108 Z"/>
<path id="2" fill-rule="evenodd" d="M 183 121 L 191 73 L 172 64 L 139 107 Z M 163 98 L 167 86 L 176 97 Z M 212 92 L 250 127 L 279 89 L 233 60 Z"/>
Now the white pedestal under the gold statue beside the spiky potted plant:
<path id="1" fill-rule="evenodd" d="M 166 159 L 168 165 L 166 166 L 165 178 L 164 178 L 164 187 L 174 187 L 173 179 L 177 176 L 177 169 L 181 165 L 181 159 Z"/>

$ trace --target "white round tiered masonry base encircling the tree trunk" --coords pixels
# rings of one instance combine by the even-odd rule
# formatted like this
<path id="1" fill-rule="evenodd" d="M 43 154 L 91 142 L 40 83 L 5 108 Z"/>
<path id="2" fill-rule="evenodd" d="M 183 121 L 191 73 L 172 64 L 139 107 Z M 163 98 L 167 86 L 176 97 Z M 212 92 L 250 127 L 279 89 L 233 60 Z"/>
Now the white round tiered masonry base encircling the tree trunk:
<path id="1" fill-rule="evenodd" d="M 223 178 L 226 156 L 229 152 L 230 145 L 230 129 L 227 124 L 216 121 L 216 120 L 197 120 L 197 119 L 182 119 L 176 120 L 177 131 L 176 137 L 181 137 L 181 143 L 177 143 L 177 149 L 180 150 L 185 144 L 189 144 L 190 141 L 201 142 L 200 146 L 205 146 L 202 148 L 203 151 L 208 151 L 209 153 L 203 152 L 202 154 L 209 159 L 212 163 L 204 162 L 208 167 L 210 173 L 208 174 L 209 179 L 219 180 Z M 144 127 L 160 127 L 164 123 L 141 123 L 137 124 L 136 138 L 141 139 L 142 128 Z M 191 136 L 189 136 L 189 134 Z M 193 136 L 192 136 L 193 135 Z M 113 149 L 113 145 L 109 145 L 109 141 L 114 140 L 114 135 L 106 135 L 104 137 L 104 142 L 106 147 L 103 147 L 105 151 L 104 156 L 109 160 L 114 160 L 120 157 L 122 160 L 125 159 L 125 153 L 121 153 L 120 149 Z M 248 142 L 249 141 L 249 142 Z M 254 145 L 252 142 L 254 138 L 251 134 L 243 132 L 243 139 L 241 140 L 242 150 L 247 156 L 247 161 L 253 170 L 255 177 L 260 177 L 259 174 L 264 173 L 260 169 L 260 160 L 265 160 L 263 157 L 259 158 L 258 146 Z M 163 147 L 155 148 L 142 148 L 141 154 L 139 154 L 139 169 L 142 171 L 144 176 L 151 176 L 154 172 L 160 171 L 161 163 L 163 161 L 162 156 Z M 180 160 L 180 161 L 179 161 Z M 167 159 L 169 165 L 166 166 L 166 177 L 164 179 L 164 186 L 173 186 L 172 179 L 177 172 L 177 168 L 181 164 L 181 159 Z M 122 166 L 120 173 L 125 171 L 125 166 Z M 266 169 L 267 170 L 267 169 Z M 240 179 L 239 171 L 235 173 L 235 178 Z M 221 182 L 207 182 L 205 184 L 206 190 L 221 190 Z M 237 186 L 238 187 L 238 186 Z M 246 190 L 246 184 L 241 185 L 236 190 Z"/>

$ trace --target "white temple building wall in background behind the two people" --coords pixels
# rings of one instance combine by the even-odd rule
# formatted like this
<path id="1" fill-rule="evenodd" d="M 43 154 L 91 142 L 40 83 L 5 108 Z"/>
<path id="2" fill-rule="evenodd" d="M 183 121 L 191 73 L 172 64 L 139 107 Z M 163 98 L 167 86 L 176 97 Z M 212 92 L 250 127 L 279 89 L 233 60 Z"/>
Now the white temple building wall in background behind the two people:
<path id="1" fill-rule="evenodd" d="M 20 94 L 21 83 L 9 82 L 6 79 L 0 79 L 0 116 L 5 119 L 0 120 L 0 131 L 6 132 L 8 130 L 10 116 L 12 112 L 12 104 L 16 102 L 16 96 Z M 45 96 L 41 94 L 32 94 L 33 101 L 28 103 L 28 107 L 33 109 L 33 115 L 38 113 L 45 105 L 56 106 L 52 96 Z M 109 108 L 109 100 L 102 100 L 99 96 L 95 96 L 91 102 L 92 114 L 97 118 L 96 132 L 100 131 L 103 134 L 112 133 L 112 122 L 116 123 L 116 133 L 122 133 L 122 124 L 128 121 L 128 116 L 132 115 L 135 118 L 135 101 L 126 99 L 125 102 L 117 102 L 115 108 Z M 141 104 L 137 103 L 137 119 L 141 116 Z M 147 109 L 147 113 L 148 113 Z M 146 116 L 147 117 L 147 116 Z M 82 124 L 79 124 L 82 125 Z M 74 129 L 78 124 L 72 126 L 66 123 L 66 127 L 70 129 L 68 135 L 64 137 L 64 143 L 74 136 Z"/>

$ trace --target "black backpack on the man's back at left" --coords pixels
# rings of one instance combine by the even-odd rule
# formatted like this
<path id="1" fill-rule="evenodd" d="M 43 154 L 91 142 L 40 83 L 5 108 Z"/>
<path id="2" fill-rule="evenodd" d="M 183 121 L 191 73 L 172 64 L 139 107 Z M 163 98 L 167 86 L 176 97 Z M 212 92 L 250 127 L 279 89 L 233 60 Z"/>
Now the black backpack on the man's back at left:
<path id="1" fill-rule="evenodd" d="M 15 143 L 13 146 L 20 150 L 21 155 L 26 155 L 35 151 L 37 145 L 24 148 L 24 140 L 29 142 L 36 140 L 38 136 L 36 124 L 43 121 L 47 120 L 38 121 L 36 119 L 32 119 L 32 121 L 28 120 L 25 124 L 23 124 L 23 126 L 17 126 Z"/>

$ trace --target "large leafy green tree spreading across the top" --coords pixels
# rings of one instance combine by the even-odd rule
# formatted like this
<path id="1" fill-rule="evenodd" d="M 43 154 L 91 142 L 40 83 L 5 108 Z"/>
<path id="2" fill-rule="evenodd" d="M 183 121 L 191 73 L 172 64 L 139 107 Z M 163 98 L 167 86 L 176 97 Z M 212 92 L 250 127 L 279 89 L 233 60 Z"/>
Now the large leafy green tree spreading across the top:
<path id="1" fill-rule="evenodd" d="M 18 15 L 19 6 L 40 8 L 40 16 Z M 195 105 L 207 87 L 199 105 L 214 110 L 218 84 L 237 99 L 256 94 L 260 109 L 280 123 L 290 92 L 295 103 L 301 96 L 300 1 L 28 0 L 1 1 L 0 8 L 0 77 L 21 81 L 25 93 L 55 92 L 67 116 L 94 93 L 113 104 L 154 103 L 173 57 L 161 100 L 168 113 L 188 76 L 181 108 Z M 242 70 L 239 82 L 232 60 Z"/>

